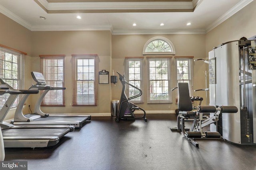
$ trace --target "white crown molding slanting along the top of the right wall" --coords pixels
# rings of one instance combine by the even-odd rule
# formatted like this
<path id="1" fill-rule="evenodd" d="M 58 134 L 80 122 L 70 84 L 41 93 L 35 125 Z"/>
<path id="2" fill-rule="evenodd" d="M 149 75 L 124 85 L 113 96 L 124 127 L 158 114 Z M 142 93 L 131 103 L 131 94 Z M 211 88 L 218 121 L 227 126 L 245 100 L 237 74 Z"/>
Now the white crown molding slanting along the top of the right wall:
<path id="1" fill-rule="evenodd" d="M 220 16 L 216 21 L 206 27 L 206 33 L 210 32 L 212 29 L 220 25 L 222 22 L 230 18 L 232 15 L 236 14 L 236 12 L 240 11 L 246 5 L 250 4 L 253 0 L 242 0 L 238 4 L 236 4 L 233 8 L 231 8 L 228 12 Z"/>

